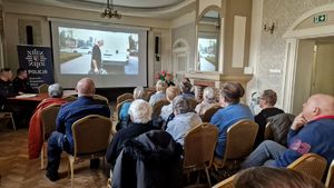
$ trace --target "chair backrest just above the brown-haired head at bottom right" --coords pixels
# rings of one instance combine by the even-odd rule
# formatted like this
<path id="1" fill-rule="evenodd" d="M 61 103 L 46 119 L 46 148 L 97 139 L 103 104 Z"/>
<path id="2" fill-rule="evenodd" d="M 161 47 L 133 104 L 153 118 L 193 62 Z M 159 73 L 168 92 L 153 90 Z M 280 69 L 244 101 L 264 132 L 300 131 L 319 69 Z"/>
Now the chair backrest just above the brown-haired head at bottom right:
<path id="1" fill-rule="evenodd" d="M 325 158 L 316 154 L 306 154 L 287 166 L 287 168 L 313 176 L 321 181 L 326 170 L 326 166 L 327 161 Z"/>

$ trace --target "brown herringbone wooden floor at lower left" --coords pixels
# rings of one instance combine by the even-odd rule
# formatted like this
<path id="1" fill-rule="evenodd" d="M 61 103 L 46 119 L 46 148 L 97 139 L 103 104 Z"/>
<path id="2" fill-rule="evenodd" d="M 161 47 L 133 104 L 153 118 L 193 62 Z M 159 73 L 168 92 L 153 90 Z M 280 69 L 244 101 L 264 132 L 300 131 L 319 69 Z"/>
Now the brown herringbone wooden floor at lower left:
<path id="1" fill-rule="evenodd" d="M 60 188 L 70 187 L 67 178 L 68 159 L 63 155 L 59 169 L 60 180 L 46 178 L 46 170 L 40 169 L 40 159 L 28 159 L 28 129 L 3 128 L 0 122 L 0 187 L 1 188 Z M 102 166 L 102 165 L 101 165 Z M 106 168 L 107 169 L 107 168 Z M 102 168 L 89 169 L 89 160 L 75 165 L 75 187 L 106 187 L 107 177 Z"/>

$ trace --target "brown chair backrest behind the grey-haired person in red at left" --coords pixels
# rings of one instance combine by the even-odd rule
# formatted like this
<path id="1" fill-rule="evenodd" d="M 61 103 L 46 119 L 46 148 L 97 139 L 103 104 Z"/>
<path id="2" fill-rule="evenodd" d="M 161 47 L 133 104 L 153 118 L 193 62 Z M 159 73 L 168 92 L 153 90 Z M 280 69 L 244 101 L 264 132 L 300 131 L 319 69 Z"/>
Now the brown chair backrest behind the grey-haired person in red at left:
<path id="1" fill-rule="evenodd" d="M 56 130 L 56 119 L 61 105 L 51 105 L 41 110 L 41 125 L 43 140 L 48 140 Z"/>

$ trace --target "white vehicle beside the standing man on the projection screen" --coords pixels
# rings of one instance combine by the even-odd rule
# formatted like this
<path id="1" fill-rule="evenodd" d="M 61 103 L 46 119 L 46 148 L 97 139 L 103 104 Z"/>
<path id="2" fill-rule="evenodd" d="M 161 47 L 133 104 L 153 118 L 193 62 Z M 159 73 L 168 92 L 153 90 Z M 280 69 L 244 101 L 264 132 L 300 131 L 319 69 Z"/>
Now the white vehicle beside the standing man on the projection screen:
<path id="1" fill-rule="evenodd" d="M 121 52 L 119 50 L 111 51 L 109 49 L 102 50 L 102 65 L 107 66 L 127 66 L 129 63 L 129 52 Z"/>

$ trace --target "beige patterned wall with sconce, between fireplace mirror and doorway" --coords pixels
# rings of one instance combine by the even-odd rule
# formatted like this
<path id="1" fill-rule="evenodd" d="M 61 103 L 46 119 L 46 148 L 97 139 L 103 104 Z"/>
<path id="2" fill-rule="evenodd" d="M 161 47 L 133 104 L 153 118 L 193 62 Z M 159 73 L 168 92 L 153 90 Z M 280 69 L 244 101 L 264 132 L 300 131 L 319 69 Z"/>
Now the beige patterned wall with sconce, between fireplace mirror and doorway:
<path id="1" fill-rule="evenodd" d="M 248 83 L 248 91 L 274 89 L 278 95 L 278 107 L 282 107 L 283 68 L 286 52 L 286 40 L 283 34 L 303 13 L 334 0 L 264 0 L 263 24 L 276 23 L 273 34 L 262 29 L 256 75 Z"/>

